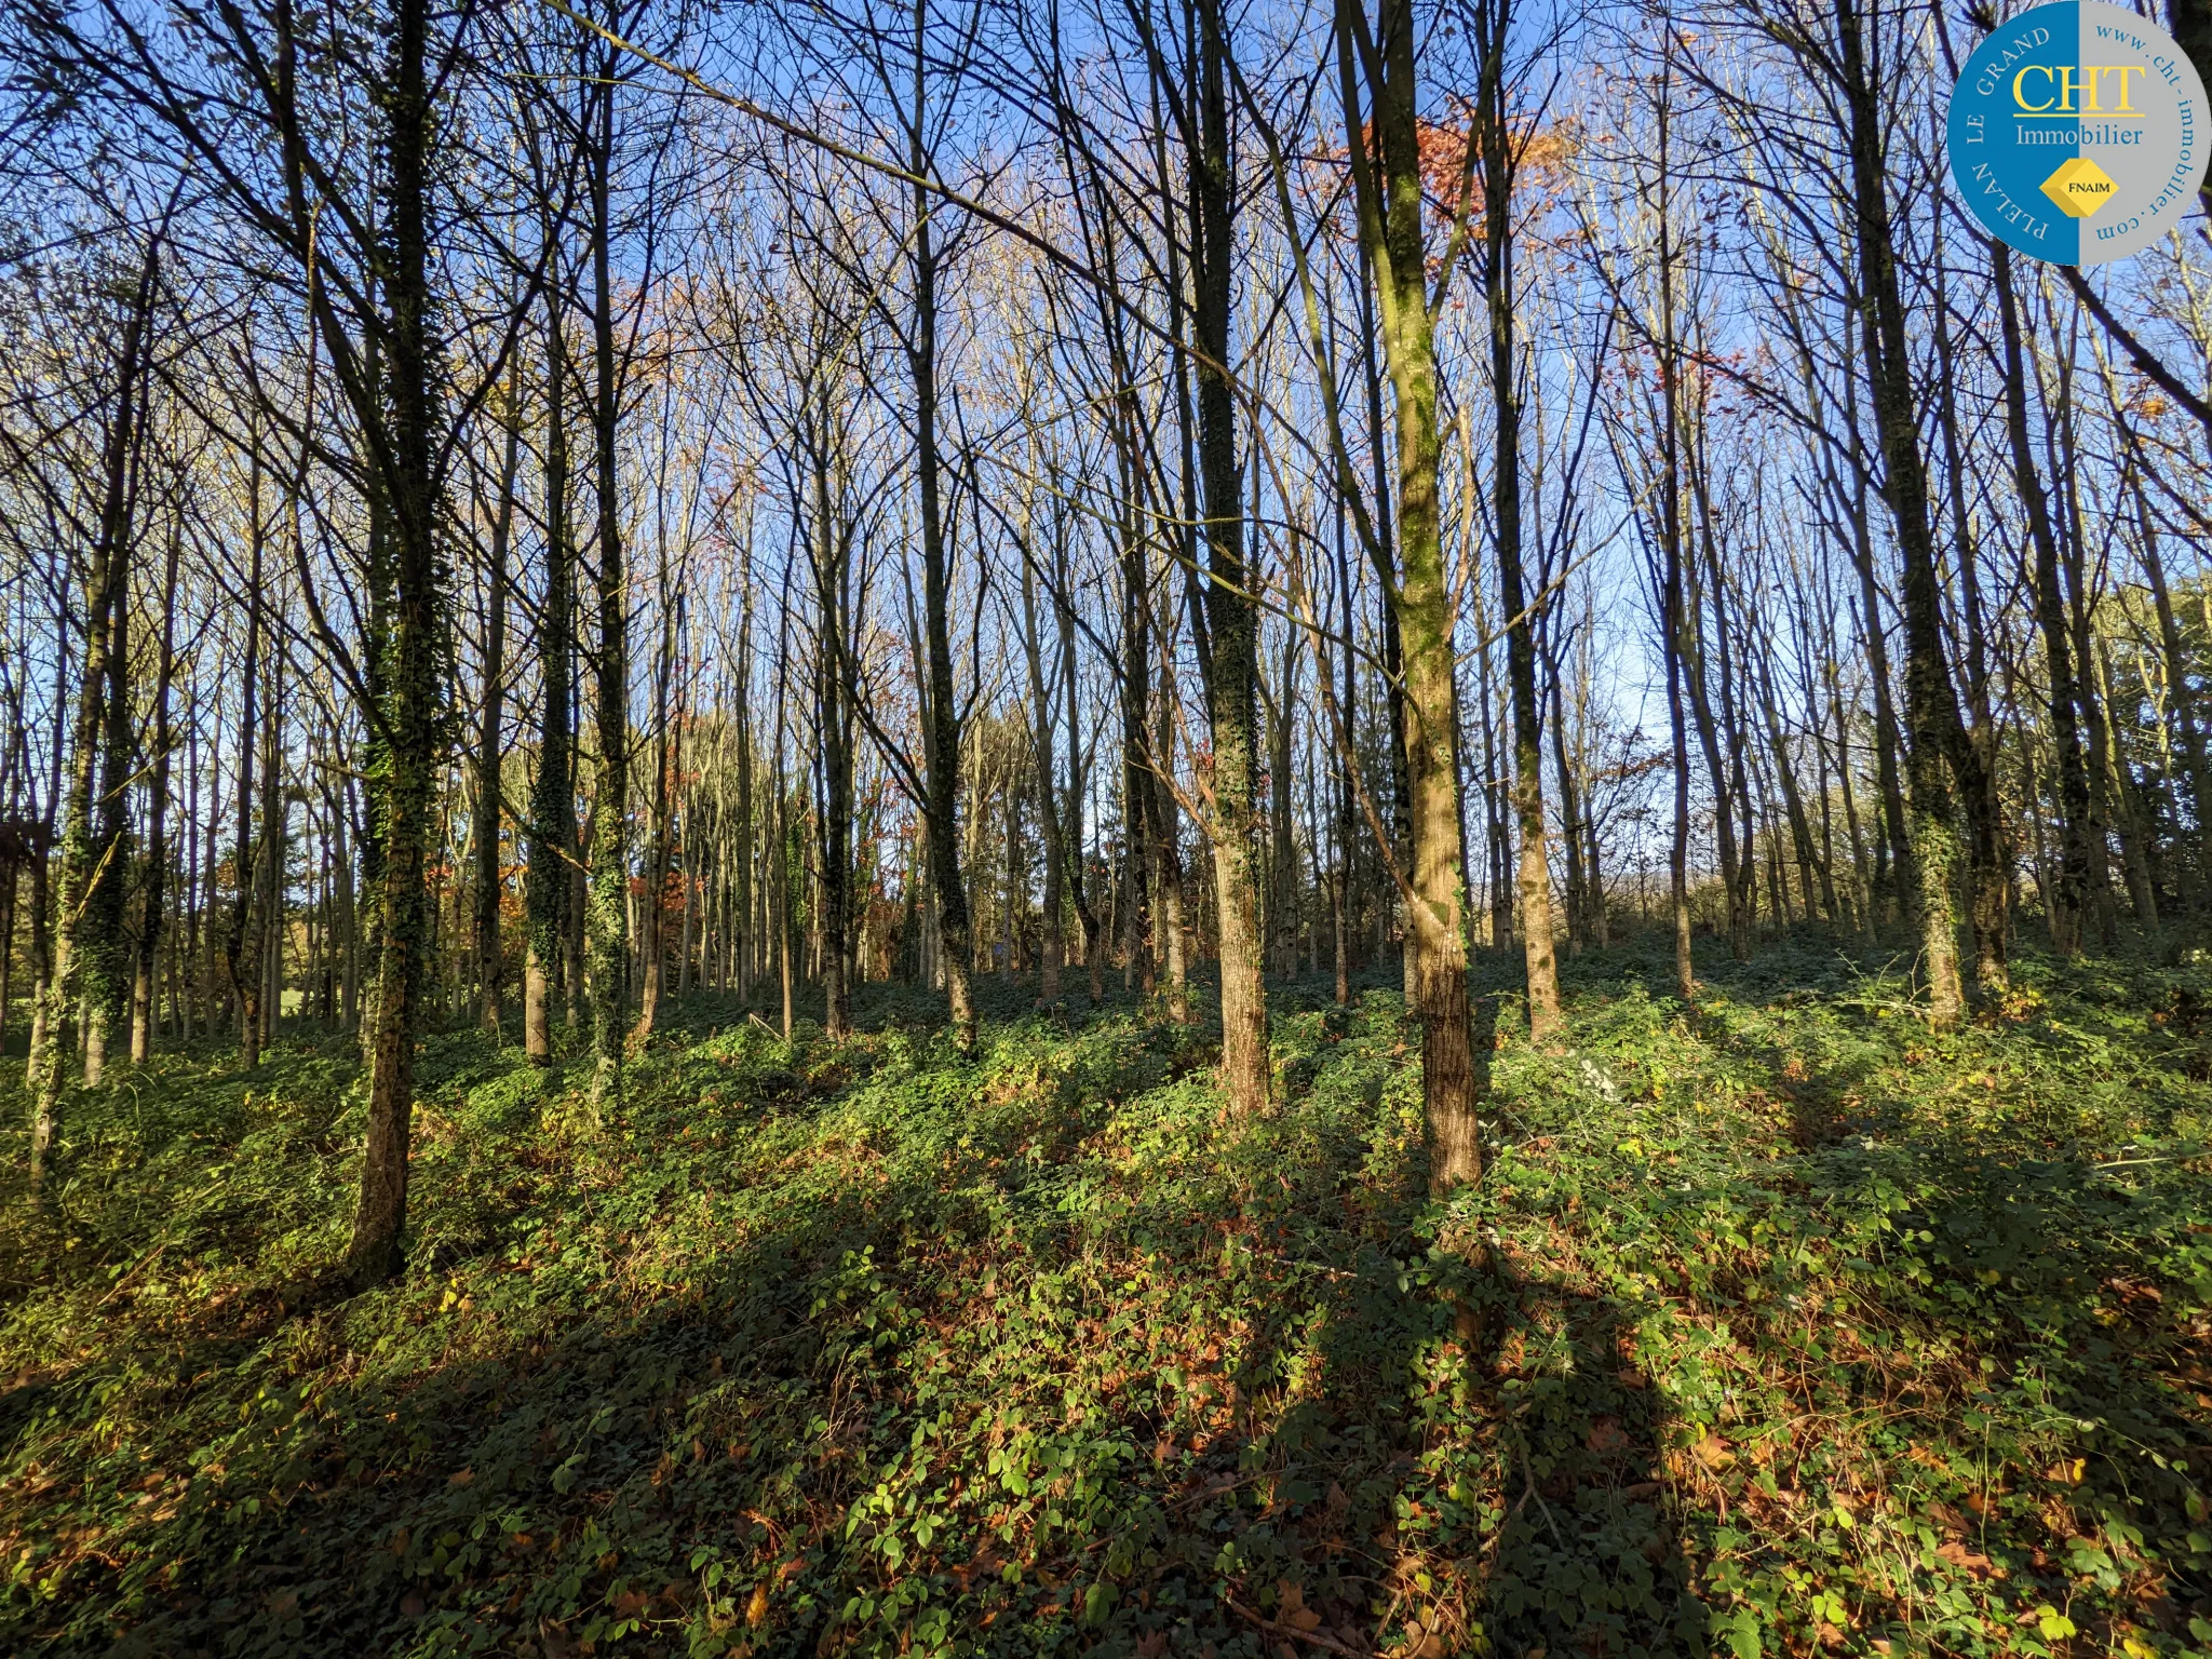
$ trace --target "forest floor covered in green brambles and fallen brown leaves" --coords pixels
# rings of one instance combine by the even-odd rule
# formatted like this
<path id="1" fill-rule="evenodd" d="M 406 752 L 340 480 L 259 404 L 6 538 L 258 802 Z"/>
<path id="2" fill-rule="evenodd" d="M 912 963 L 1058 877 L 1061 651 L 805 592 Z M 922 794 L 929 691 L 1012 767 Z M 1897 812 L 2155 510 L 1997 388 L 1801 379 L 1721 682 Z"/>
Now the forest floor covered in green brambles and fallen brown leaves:
<path id="1" fill-rule="evenodd" d="M 1442 1206 L 1383 978 L 1276 989 L 1259 1121 L 995 982 L 967 1062 L 692 998 L 602 1119 L 453 1033 L 349 1298 L 343 1042 L 75 1102 L 38 1208 L 13 1062 L 0 1652 L 2212 1650 L 2212 971 L 1699 967 L 1544 1053 L 1486 962 Z"/>

